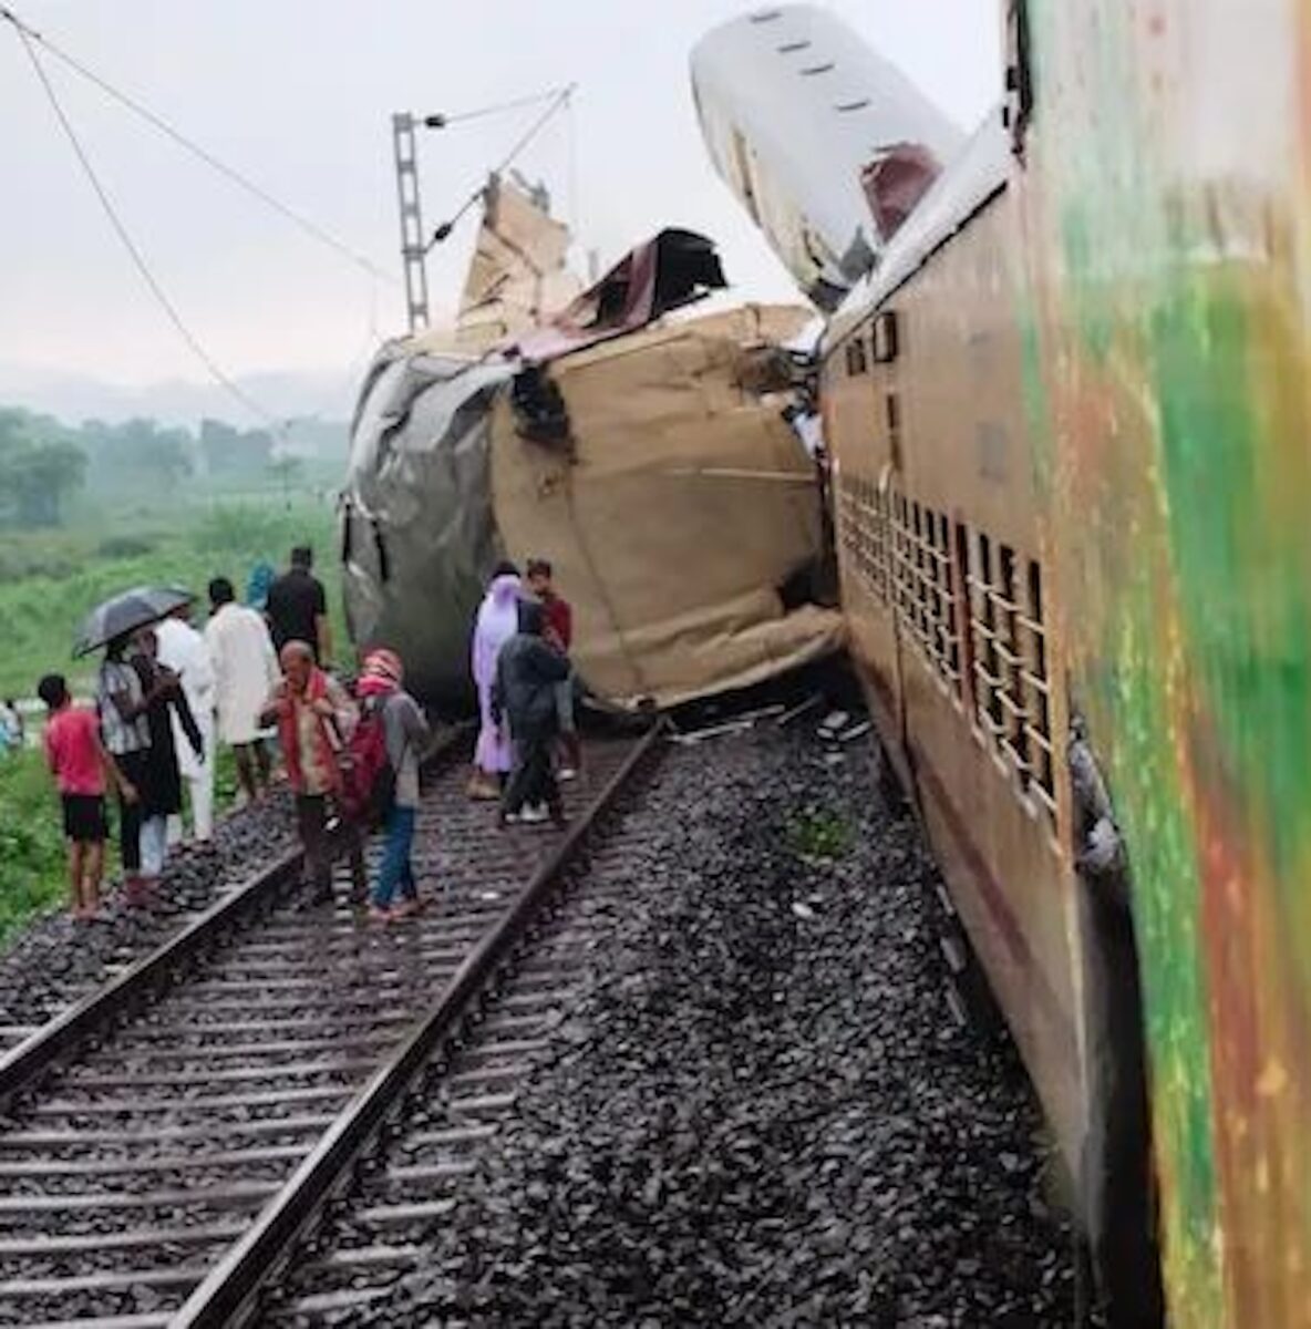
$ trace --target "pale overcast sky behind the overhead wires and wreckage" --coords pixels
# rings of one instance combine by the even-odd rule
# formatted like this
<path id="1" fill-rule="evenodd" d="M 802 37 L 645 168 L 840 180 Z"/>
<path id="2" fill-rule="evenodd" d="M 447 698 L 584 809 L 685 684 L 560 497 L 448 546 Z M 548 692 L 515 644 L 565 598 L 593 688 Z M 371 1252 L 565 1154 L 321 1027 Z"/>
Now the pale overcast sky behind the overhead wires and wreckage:
<path id="1" fill-rule="evenodd" d="M 578 81 L 521 166 L 603 266 L 663 225 L 705 231 L 744 298 L 793 288 L 712 173 L 688 51 L 741 0 L 12 0 L 16 12 L 389 271 L 393 110 L 460 110 Z M 998 0 L 831 0 L 963 128 L 996 100 Z M 400 330 L 372 282 L 48 68 L 105 185 L 185 318 L 232 373 L 340 371 Z M 420 142 L 425 221 L 470 193 L 533 112 Z M 109 230 L 12 29 L 0 23 L 0 361 L 114 383 L 205 377 Z M 572 144 L 572 152 L 571 145 Z M 570 167 L 571 157 L 575 162 Z M 454 302 L 474 227 L 430 264 Z"/>

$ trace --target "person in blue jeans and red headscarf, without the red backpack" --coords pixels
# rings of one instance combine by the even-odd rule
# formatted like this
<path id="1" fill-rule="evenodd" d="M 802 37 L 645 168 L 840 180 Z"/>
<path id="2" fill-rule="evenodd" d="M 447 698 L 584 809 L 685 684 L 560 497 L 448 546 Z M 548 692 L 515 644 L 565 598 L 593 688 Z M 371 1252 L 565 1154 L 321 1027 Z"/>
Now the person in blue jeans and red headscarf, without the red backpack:
<path id="1" fill-rule="evenodd" d="M 418 811 L 418 759 L 432 742 L 432 731 L 418 703 L 401 686 L 401 658 L 389 650 L 371 651 L 364 659 L 357 691 L 367 706 L 379 706 L 387 736 L 387 759 L 396 772 L 396 796 L 387 812 L 387 840 L 369 917 L 379 922 L 405 918 L 418 909 L 418 886 L 410 849 Z"/>

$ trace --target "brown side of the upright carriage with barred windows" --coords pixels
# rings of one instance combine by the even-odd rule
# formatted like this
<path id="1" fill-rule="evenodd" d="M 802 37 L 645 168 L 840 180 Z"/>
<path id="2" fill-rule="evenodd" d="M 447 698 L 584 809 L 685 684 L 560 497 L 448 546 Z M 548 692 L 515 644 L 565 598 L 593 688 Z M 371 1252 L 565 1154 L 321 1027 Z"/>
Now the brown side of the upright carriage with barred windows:
<path id="1" fill-rule="evenodd" d="M 1077 1174 L 1067 716 L 1007 288 L 1004 181 L 830 328 L 824 392 L 853 654 L 889 760 Z M 974 206 L 971 203 L 974 202 Z"/>

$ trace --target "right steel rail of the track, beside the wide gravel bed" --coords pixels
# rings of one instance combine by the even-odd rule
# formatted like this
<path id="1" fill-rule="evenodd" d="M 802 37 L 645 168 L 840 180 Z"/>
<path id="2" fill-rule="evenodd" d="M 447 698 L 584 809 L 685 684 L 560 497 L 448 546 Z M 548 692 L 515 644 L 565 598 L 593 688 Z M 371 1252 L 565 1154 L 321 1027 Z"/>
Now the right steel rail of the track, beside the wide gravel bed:
<path id="1" fill-rule="evenodd" d="M 646 759 L 660 751 L 663 736 L 664 723 L 660 722 L 634 746 L 587 812 L 572 823 L 566 837 L 533 873 L 515 904 L 469 953 L 437 1003 L 420 1018 L 401 1047 L 379 1067 L 282 1191 L 260 1211 L 254 1225 L 170 1320 L 171 1329 L 219 1329 L 246 1322 L 254 1314 L 259 1292 L 282 1265 L 292 1243 L 348 1179 L 356 1160 L 432 1054 L 457 1033 L 502 961 L 549 902 L 558 878 L 583 849 L 592 828 Z"/>

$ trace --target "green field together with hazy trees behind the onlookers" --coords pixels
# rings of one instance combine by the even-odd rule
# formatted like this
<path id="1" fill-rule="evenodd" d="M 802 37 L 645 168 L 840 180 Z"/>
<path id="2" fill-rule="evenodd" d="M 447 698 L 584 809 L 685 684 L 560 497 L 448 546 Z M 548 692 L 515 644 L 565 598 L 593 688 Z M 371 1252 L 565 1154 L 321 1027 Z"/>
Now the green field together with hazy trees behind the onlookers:
<path id="1" fill-rule="evenodd" d="M 211 577 L 230 577 L 244 595 L 255 563 L 282 569 L 300 544 L 315 548 L 344 643 L 332 493 L 345 429 L 300 421 L 290 440 L 296 451 L 279 455 L 267 432 L 217 420 L 194 433 L 154 420 L 69 427 L 0 407 L 0 696 L 33 696 L 52 670 L 89 695 L 96 658 L 69 653 L 98 601 L 135 585 L 185 586 L 199 598 L 199 626 Z M 220 752 L 220 809 L 235 791 L 231 754 Z M 62 908 L 65 894 L 43 755 L 0 755 L 0 945 L 33 914 Z"/>

